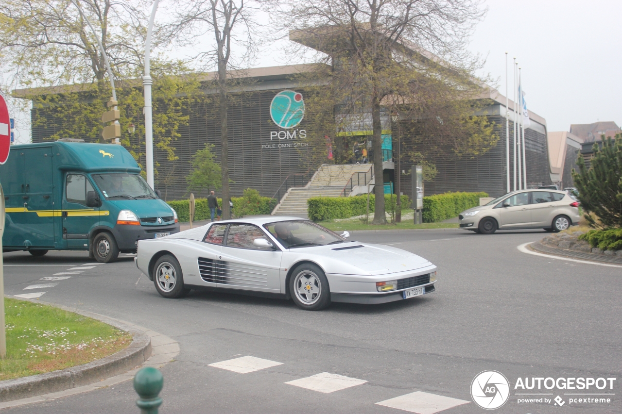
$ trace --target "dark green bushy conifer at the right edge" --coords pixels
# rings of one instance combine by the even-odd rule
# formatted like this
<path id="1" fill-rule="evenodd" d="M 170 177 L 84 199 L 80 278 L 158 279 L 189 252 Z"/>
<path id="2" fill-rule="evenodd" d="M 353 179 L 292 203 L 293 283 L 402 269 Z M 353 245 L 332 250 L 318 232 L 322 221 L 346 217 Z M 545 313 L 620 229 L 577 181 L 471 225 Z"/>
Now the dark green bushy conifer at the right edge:
<path id="1" fill-rule="evenodd" d="M 585 219 L 595 229 L 622 228 L 622 134 L 593 145 L 590 168 L 579 156 L 579 171 L 572 170 Z M 593 213 L 596 218 L 592 216 Z"/>

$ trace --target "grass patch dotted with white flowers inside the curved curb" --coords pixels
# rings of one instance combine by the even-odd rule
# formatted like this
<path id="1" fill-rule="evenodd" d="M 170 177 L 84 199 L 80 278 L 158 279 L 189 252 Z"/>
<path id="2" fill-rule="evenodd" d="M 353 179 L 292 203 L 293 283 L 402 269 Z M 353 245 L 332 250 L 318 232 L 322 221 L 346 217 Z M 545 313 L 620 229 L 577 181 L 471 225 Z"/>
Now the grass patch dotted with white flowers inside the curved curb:
<path id="1" fill-rule="evenodd" d="M 29 301 L 4 298 L 6 358 L 0 380 L 86 364 L 114 354 L 132 336 L 103 322 Z"/>

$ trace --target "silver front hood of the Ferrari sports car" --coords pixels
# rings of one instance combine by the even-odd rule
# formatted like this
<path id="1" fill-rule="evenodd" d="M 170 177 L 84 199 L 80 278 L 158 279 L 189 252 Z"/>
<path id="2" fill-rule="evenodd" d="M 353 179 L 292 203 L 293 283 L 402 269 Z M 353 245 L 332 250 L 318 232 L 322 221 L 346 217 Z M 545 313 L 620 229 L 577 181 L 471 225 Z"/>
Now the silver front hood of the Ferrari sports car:
<path id="1" fill-rule="evenodd" d="M 363 246 L 363 247 L 355 247 Z M 355 247 L 345 248 L 344 247 Z M 363 270 L 365 273 L 379 275 L 389 272 L 406 272 L 407 270 L 421 269 L 432 265 L 429 260 L 414 253 L 382 244 L 367 244 L 351 242 L 346 246 L 335 244 L 331 246 L 304 247 L 300 252 L 322 255 L 326 259 L 333 259 Z M 326 269 L 331 272 L 331 269 Z"/>

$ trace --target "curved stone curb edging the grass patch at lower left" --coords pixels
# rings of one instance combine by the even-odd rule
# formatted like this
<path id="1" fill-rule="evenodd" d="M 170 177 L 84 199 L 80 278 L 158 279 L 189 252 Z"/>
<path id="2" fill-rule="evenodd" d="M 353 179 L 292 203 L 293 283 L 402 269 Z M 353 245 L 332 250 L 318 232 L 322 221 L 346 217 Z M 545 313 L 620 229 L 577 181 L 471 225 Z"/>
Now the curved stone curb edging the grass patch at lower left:
<path id="1" fill-rule="evenodd" d="M 134 339 L 125 349 L 97 361 L 30 377 L 0 381 L 0 410 L 108 387 L 132 379 L 142 366 L 160 367 L 179 354 L 179 344 L 174 339 L 151 329 L 68 306 L 29 301 L 88 316 L 131 332 Z"/>

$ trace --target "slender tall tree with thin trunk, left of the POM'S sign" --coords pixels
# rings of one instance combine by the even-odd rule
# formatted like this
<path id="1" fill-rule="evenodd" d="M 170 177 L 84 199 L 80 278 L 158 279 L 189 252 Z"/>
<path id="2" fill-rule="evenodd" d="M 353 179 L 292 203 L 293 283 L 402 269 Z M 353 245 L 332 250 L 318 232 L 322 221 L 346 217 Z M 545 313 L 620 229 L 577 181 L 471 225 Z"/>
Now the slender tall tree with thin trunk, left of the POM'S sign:
<path id="1" fill-rule="evenodd" d="M 249 62 L 259 43 L 255 33 L 258 23 L 255 13 L 261 2 L 255 0 L 190 0 L 179 7 L 177 19 L 170 25 L 172 35 L 187 42 L 208 35 L 212 42 L 198 53 L 197 59 L 203 68 L 215 68 L 215 83 L 218 90 L 220 115 L 222 169 L 223 219 L 231 218 L 231 209 L 226 200 L 230 198 L 229 187 L 229 135 L 227 109 L 231 70 L 241 75 L 239 65 Z M 239 49 L 238 49 L 239 48 Z"/>

